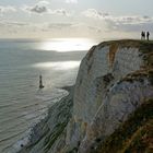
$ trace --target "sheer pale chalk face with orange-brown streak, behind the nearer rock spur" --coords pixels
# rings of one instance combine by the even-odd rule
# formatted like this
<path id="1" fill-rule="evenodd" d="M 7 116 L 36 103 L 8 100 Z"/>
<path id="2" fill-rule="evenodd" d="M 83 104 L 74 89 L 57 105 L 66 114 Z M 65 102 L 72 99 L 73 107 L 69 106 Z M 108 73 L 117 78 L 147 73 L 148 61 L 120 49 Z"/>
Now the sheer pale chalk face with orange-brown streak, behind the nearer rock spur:
<path id="1" fill-rule="evenodd" d="M 69 123 L 73 133 L 68 134 L 68 143 L 76 145 L 84 138 L 107 90 L 128 73 L 141 69 L 143 60 L 140 55 L 139 47 L 119 44 L 102 44 L 90 50 L 81 63 L 75 83 L 73 118 Z"/>

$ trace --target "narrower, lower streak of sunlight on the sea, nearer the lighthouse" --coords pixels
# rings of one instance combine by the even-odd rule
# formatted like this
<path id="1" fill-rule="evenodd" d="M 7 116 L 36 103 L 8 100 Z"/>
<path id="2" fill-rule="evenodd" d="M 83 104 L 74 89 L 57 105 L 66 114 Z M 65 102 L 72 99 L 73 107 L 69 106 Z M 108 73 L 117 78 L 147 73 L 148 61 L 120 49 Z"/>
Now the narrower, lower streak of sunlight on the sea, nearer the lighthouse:
<path id="1" fill-rule="evenodd" d="M 35 68 L 51 68 L 54 70 L 69 70 L 78 68 L 80 61 L 58 61 L 58 62 L 40 62 L 36 63 L 33 67 Z"/>

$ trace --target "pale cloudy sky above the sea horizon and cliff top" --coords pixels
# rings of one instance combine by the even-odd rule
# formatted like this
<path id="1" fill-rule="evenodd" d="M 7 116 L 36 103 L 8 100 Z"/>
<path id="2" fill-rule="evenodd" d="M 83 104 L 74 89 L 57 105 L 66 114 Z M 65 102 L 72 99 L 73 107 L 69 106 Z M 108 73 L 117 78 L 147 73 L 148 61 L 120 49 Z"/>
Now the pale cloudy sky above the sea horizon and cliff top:
<path id="1" fill-rule="evenodd" d="M 0 38 L 139 38 L 153 0 L 0 0 Z"/>

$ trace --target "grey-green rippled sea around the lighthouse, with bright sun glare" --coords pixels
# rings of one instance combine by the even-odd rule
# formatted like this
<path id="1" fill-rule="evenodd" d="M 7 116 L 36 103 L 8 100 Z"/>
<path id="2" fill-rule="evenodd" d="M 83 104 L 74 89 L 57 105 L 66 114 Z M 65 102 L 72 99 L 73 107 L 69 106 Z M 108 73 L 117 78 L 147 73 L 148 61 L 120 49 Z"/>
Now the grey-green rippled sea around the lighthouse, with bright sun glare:
<path id="1" fill-rule="evenodd" d="M 62 86 L 74 84 L 82 58 L 95 44 L 86 38 L 0 39 L 0 153 L 68 94 Z"/>

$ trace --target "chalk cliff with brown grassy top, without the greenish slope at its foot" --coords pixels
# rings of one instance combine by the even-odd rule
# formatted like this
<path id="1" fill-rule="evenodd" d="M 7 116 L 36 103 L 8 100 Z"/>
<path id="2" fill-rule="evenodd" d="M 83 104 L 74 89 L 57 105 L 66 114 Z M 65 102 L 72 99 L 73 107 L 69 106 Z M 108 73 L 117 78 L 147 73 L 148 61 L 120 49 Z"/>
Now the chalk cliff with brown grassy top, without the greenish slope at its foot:
<path id="1" fill-rule="evenodd" d="M 67 143 L 90 152 L 146 98 L 153 97 L 153 44 L 117 40 L 94 46 L 78 74 Z M 72 132 L 71 132 L 72 131 Z"/>

